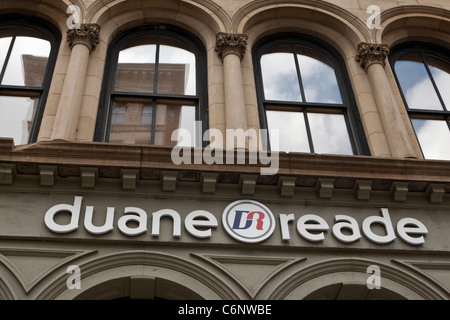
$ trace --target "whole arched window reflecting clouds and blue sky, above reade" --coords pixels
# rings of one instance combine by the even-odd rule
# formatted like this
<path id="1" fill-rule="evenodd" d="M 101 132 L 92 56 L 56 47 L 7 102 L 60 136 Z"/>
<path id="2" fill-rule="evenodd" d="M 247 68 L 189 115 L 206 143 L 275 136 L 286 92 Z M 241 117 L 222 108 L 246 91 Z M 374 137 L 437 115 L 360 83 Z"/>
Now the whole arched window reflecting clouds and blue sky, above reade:
<path id="1" fill-rule="evenodd" d="M 259 41 L 253 57 L 268 148 L 368 154 L 344 62 L 332 48 L 307 36 L 278 34 Z"/>

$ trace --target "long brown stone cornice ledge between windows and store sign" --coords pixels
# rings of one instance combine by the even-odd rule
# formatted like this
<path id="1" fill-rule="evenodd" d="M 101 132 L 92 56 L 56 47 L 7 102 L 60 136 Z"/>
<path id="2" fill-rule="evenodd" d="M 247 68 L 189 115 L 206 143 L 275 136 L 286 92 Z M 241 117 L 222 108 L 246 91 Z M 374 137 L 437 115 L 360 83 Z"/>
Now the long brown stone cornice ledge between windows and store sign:
<path id="1" fill-rule="evenodd" d="M 111 178 L 119 177 L 126 168 L 136 170 L 143 180 L 158 176 L 162 171 L 189 173 L 199 179 L 202 173 L 209 172 L 219 174 L 219 180 L 237 183 L 240 175 L 252 174 L 258 177 L 258 184 L 272 184 L 281 176 L 291 176 L 296 177 L 297 185 L 301 181 L 305 186 L 309 182 L 314 184 L 319 178 L 333 178 L 343 187 L 349 181 L 361 179 L 379 181 L 381 185 L 406 181 L 417 188 L 439 183 L 444 185 L 445 192 L 450 192 L 450 161 L 280 153 L 278 173 L 264 176 L 260 175 L 263 166 L 249 164 L 249 161 L 246 164 L 213 165 L 192 161 L 192 164 L 176 165 L 171 152 L 168 147 L 106 143 L 40 142 L 14 147 L 13 140 L 0 139 L 0 167 L 18 175 L 39 174 L 42 166 L 55 166 L 57 172 L 68 170 L 75 175 L 79 175 L 82 168 L 98 168 L 100 176 Z M 249 157 L 248 153 L 246 157 Z M 237 158 L 235 160 L 237 163 Z M 376 183 L 374 188 L 377 188 Z"/>

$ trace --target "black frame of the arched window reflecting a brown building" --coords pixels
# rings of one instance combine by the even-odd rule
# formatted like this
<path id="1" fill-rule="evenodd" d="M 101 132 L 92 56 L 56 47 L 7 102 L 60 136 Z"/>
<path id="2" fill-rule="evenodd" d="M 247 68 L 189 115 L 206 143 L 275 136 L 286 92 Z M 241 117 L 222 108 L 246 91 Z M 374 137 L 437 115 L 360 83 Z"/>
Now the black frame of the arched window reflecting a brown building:
<path id="1" fill-rule="evenodd" d="M 114 85 L 116 80 L 118 59 L 122 48 L 130 41 L 139 37 L 149 35 L 162 35 L 173 37 L 186 44 L 196 58 L 196 95 L 171 95 L 164 93 L 133 93 L 133 92 L 115 92 Z M 159 64 L 159 61 L 158 61 Z M 111 128 L 111 117 L 113 108 L 113 96 L 121 96 L 128 98 L 144 98 L 151 100 L 175 100 L 175 101 L 195 101 L 195 120 L 201 121 L 201 137 L 197 137 L 196 146 L 207 146 L 208 141 L 203 141 L 203 135 L 209 128 L 208 116 L 208 96 L 207 96 L 207 61 L 206 48 L 203 43 L 190 32 L 179 27 L 168 24 L 148 24 L 132 28 L 121 33 L 114 39 L 109 48 L 105 63 L 104 81 L 102 85 L 102 93 L 100 96 L 99 110 L 97 122 L 95 126 L 94 141 L 109 142 L 109 134 Z M 157 70 L 155 70 L 156 78 Z M 155 86 L 157 83 L 154 84 Z M 157 103 L 157 102 L 155 102 Z M 155 130 L 155 115 L 152 116 L 152 133 Z M 200 128 L 196 128 L 197 130 Z M 199 132 L 197 132 L 199 133 Z M 151 137 L 152 141 L 154 135 Z M 200 139 L 202 140 L 200 143 Z M 209 138 L 208 138 L 209 140 Z M 198 145 L 197 145 L 198 144 Z M 153 143 L 148 144 L 154 145 Z M 163 145 L 164 146 L 164 145 Z"/>

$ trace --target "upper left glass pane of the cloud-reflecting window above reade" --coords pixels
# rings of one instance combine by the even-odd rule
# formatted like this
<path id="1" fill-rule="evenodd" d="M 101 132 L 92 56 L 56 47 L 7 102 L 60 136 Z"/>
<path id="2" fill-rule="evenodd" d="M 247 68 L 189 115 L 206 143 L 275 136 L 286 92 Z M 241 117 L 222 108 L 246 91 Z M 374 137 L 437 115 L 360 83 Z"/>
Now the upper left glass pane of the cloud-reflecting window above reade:
<path id="1" fill-rule="evenodd" d="M 261 73 L 266 100 L 302 102 L 291 45 L 276 46 L 264 54 Z"/>

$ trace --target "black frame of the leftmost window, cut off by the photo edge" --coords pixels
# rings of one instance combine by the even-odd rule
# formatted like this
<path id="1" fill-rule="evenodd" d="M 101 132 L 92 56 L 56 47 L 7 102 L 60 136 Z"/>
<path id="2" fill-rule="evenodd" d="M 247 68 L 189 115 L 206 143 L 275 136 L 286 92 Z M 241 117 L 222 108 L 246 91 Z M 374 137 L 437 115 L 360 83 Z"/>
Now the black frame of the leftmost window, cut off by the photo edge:
<path id="1" fill-rule="evenodd" d="M 55 70 L 56 60 L 58 58 L 59 47 L 61 44 L 61 33 L 59 29 L 52 23 L 35 17 L 28 17 L 22 15 L 6 15 L 0 19 L 0 27 L 15 27 L 13 40 L 8 48 L 5 62 L 0 66 L 0 96 L 14 96 L 14 97 L 36 97 L 39 98 L 39 103 L 34 115 L 33 124 L 28 137 L 28 143 L 37 141 L 39 130 L 44 115 L 44 109 L 47 103 L 48 93 L 52 83 L 52 77 Z M 17 32 L 20 27 L 35 29 L 41 32 L 50 43 L 50 53 L 47 61 L 45 73 L 43 75 L 42 85 L 40 87 L 19 86 L 19 85 L 2 85 L 4 73 L 6 71 L 8 60 L 14 48 L 14 41 L 17 37 Z"/>

